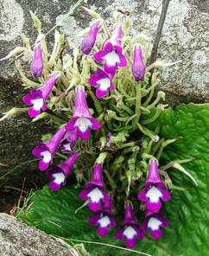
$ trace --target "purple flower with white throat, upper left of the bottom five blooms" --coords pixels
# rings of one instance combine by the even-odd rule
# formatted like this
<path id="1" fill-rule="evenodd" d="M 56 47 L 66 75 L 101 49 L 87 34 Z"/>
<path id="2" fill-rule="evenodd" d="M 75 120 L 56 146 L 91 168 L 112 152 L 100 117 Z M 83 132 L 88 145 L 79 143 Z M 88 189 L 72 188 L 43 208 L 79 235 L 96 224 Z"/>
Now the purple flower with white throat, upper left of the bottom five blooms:
<path id="1" fill-rule="evenodd" d="M 88 207 L 92 212 L 100 209 L 101 201 L 105 202 L 107 194 L 104 191 L 102 166 L 100 164 L 94 166 L 91 181 L 85 184 L 85 189 L 80 192 L 79 197 L 84 201 L 89 200 Z"/>

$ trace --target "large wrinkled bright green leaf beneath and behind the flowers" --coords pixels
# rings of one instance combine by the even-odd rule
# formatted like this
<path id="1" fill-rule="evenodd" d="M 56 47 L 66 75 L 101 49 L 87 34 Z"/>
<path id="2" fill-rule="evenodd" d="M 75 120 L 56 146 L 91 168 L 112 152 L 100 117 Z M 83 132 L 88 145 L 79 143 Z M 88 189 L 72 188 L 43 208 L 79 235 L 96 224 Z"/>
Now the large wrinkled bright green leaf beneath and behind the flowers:
<path id="1" fill-rule="evenodd" d="M 209 246 L 209 105 L 190 104 L 178 106 L 175 111 L 168 109 L 149 128 L 155 128 L 156 125 L 161 125 L 160 137 L 180 138 L 166 147 L 162 153 L 161 166 L 171 161 L 193 158 L 192 162 L 182 164 L 198 182 L 198 186 L 181 171 L 174 168 L 167 170 L 174 185 L 187 190 L 174 190 L 172 200 L 164 204 L 163 212 L 170 224 L 163 230 L 161 240 L 156 241 L 148 236 L 138 241 L 135 250 L 155 256 L 205 256 Z M 70 187 L 55 193 L 47 187 L 35 192 L 26 221 L 48 234 L 123 246 L 123 242 L 113 238 L 115 230 L 104 239 L 98 237 L 96 228 L 87 224 L 91 215 L 87 208 L 74 214 L 83 203 L 78 194 L 78 190 Z M 93 256 L 136 254 L 101 245 L 85 246 Z"/>

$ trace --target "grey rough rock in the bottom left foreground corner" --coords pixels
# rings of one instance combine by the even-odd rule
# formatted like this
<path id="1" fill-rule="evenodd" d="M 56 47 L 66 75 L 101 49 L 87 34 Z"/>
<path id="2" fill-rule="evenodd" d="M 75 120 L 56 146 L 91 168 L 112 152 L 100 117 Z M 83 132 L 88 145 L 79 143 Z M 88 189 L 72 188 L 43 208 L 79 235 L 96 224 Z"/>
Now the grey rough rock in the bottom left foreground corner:
<path id="1" fill-rule="evenodd" d="M 79 256 L 35 227 L 28 227 L 15 217 L 0 214 L 1 256 Z"/>

